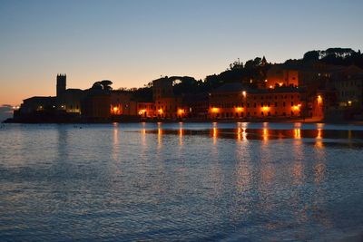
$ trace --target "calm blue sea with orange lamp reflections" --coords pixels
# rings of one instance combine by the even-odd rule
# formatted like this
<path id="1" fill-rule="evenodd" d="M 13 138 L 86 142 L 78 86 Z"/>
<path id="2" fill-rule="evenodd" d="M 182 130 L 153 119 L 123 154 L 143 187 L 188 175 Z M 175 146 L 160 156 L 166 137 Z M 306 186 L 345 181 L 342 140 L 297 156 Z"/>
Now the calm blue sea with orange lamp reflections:
<path id="1" fill-rule="evenodd" d="M 362 231 L 363 126 L 0 125 L 0 241 L 330 241 Z"/>

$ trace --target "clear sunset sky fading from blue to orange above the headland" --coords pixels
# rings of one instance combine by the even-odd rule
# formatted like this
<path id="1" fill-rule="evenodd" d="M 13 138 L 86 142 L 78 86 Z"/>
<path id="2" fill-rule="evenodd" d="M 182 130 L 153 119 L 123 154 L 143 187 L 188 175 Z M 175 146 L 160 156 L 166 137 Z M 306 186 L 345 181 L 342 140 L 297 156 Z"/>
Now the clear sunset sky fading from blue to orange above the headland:
<path id="1" fill-rule="evenodd" d="M 0 0 L 0 106 L 67 87 L 204 79 L 229 63 L 272 63 L 363 44 L 361 0 Z"/>

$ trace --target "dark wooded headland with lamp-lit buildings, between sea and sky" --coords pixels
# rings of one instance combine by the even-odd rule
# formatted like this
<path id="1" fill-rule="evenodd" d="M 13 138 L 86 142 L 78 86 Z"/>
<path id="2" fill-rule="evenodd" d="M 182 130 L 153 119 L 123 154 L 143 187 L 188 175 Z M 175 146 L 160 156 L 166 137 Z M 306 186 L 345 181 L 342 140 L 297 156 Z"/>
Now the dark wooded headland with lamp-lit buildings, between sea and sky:
<path id="1" fill-rule="evenodd" d="M 56 96 L 25 99 L 5 122 L 363 120 L 363 54 L 349 48 L 285 63 L 239 60 L 204 80 L 164 76 L 133 89 L 109 80 L 67 89 L 66 81 L 57 74 Z"/>

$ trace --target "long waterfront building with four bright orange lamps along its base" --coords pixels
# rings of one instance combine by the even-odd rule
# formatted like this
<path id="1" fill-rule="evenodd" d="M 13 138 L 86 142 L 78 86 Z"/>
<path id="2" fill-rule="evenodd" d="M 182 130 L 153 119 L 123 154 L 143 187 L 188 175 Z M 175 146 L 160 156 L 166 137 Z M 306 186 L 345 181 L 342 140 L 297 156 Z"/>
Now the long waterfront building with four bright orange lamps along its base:
<path id="1" fill-rule="evenodd" d="M 211 119 L 300 117 L 305 107 L 298 87 L 249 89 L 227 83 L 211 92 Z"/>

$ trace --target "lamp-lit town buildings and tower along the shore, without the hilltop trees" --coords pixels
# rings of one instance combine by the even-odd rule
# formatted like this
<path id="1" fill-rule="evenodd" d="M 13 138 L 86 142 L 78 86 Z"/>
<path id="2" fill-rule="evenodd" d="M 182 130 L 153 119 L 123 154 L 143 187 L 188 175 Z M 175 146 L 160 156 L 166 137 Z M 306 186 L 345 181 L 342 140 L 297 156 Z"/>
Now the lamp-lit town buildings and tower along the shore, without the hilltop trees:
<path id="1" fill-rule="evenodd" d="M 58 74 L 56 96 L 25 99 L 15 119 L 45 113 L 65 121 L 344 119 L 363 113 L 363 70 L 353 65 L 274 64 L 263 86 L 227 82 L 195 93 L 176 94 L 175 79 L 168 77 L 152 81 L 150 96 L 103 88 L 102 82 L 87 90 L 67 89 L 66 75 Z"/>

